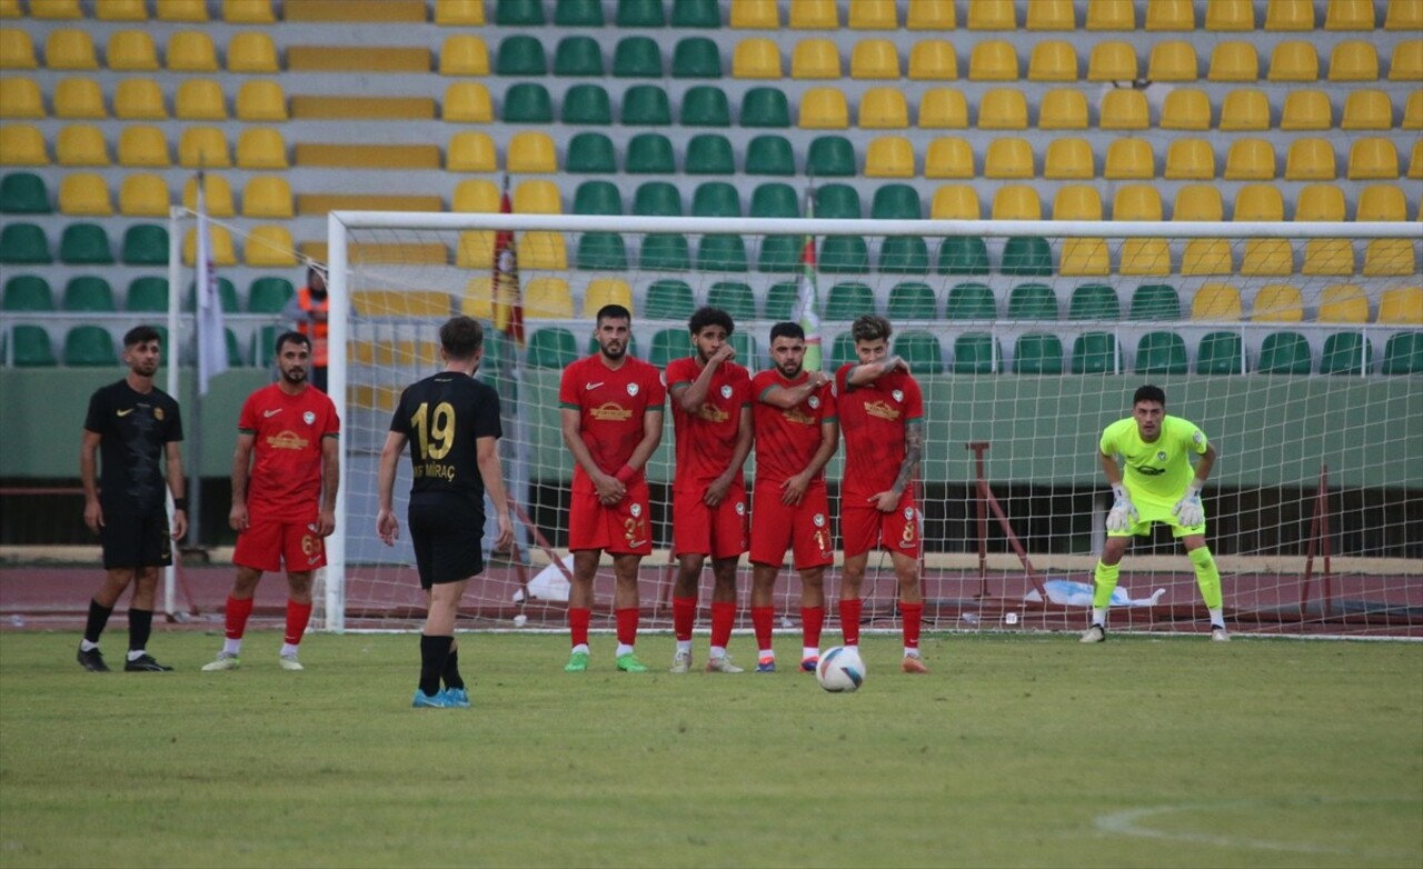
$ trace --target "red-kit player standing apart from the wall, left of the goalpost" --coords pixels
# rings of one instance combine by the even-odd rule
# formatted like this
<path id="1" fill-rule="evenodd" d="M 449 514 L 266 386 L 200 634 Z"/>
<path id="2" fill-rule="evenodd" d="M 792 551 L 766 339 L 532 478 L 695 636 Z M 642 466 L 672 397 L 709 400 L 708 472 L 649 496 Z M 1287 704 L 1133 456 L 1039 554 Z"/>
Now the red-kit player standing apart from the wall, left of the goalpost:
<path id="1" fill-rule="evenodd" d="M 286 563 L 283 670 L 300 670 L 297 644 L 312 619 L 312 572 L 326 566 L 324 538 L 336 529 L 340 420 L 336 405 L 307 384 L 312 341 L 299 331 L 276 340 L 280 377 L 250 395 L 238 418 L 232 454 L 232 511 L 238 577 L 226 606 L 226 640 L 203 670 L 236 670 L 252 597 L 266 570 Z M 255 457 L 255 459 L 253 459 Z"/>

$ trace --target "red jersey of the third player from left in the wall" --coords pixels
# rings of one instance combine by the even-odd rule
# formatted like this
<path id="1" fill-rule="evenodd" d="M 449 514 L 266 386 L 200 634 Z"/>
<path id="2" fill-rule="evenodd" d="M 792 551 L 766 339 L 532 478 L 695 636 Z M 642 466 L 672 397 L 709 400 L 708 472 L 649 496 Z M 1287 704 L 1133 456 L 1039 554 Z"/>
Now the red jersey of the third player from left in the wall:
<path id="1" fill-rule="evenodd" d="M 785 380 L 778 370 L 767 368 L 751 378 L 757 491 L 767 491 L 763 484 L 780 485 L 804 471 L 820 449 L 821 425 L 835 421 L 835 393 L 828 383 L 790 410 L 761 401 L 771 387 L 794 388 L 807 377 L 810 374 L 801 371 L 795 380 Z M 815 479 L 824 478 L 824 469 L 815 475 Z"/>

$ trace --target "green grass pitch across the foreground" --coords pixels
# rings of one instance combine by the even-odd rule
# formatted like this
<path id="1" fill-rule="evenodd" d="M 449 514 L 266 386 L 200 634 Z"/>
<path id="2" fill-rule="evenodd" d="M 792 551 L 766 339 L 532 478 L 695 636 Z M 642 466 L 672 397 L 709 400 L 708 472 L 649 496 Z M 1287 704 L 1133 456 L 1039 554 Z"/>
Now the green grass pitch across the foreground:
<path id="1" fill-rule="evenodd" d="M 1419 643 L 932 636 L 908 677 L 877 636 L 834 695 L 462 634 L 472 710 L 410 708 L 414 636 L 307 637 L 305 673 L 266 631 L 236 673 L 198 671 L 215 634 L 155 636 L 171 674 L 77 643 L 0 636 L 4 869 L 1423 866 Z"/>

